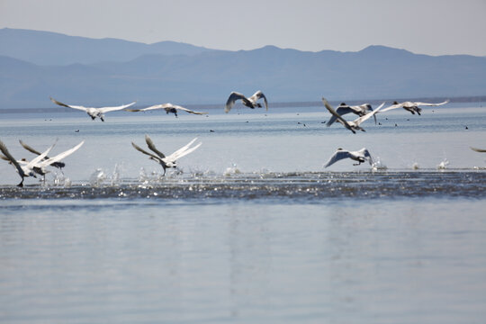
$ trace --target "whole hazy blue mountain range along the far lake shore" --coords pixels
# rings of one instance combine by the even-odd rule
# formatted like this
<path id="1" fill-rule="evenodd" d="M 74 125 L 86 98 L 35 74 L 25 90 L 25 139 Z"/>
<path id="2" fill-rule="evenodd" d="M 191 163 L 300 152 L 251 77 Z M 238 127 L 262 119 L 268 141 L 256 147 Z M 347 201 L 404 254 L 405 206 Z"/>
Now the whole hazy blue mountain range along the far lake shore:
<path id="1" fill-rule="evenodd" d="M 370 46 L 307 52 L 227 51 L 162 41 L 93 40 L 0 30 L 0 108 L 44 108 L 49 96 L 83 105 L 221 103 L 261 89 L 272 102 L 452 98 L 486 94 L 486 58 Z"/>

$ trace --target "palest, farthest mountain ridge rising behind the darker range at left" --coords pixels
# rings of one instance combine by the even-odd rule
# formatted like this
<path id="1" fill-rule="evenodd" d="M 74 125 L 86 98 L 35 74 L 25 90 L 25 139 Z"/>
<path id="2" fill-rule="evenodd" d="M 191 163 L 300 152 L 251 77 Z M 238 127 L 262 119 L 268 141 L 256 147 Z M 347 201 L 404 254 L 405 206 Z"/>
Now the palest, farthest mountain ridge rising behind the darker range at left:
<path id="1" fill-rule="evenodd" d="M 202 47 L 175 41 L 145 44 L 128 40 L 89 39 L 50 31 L 0 29 L 0 55 L 44 65 L 127 61 L 144 54 L 194 55 Z"/>

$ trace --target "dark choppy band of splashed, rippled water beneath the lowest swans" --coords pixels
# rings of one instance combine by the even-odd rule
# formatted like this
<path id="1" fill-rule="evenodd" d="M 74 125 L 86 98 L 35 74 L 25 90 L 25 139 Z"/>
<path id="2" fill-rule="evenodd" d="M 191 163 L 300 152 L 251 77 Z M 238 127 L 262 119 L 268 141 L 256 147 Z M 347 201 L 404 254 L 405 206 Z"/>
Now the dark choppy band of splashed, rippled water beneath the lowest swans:
<path id="1" fill-rule="evenodd" d="M 285 199 L 484 198 L 486 172 L 343 172 L 177 175 L 118 184 L 1 186 L 0 199 Z"/>

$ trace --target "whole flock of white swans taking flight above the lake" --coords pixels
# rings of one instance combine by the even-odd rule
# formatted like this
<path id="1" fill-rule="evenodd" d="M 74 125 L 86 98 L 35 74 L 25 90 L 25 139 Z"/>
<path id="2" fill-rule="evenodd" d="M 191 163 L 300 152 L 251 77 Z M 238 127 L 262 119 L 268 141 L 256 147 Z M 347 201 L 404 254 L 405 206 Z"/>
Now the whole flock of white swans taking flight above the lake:
<path id="1" fill-rule="evenodd" d="M 243 103 L 245 106 L 251 109 L 255 108 L 261 108 L 262 104 L 258 103 L 260 99 L 263 99 L 263 103 L 265 105 L 266 110 L 268 110 L 268 102 L 266 100 L 265 94 L 263 94 L 261 91 L 257 91 L 255 94 L 251 95 L 250 97 L 246 97 L 244 94 L 239 94 L 237 92 L 232 92 L 229 94 L 229 98 L 226 102 L 225 105 L 225 112 L 229 112 L 231 108 L 234 106 L 234 104 L 238 101 L 241 100 L 241 103 Z M 149 106 L 147 108 L 143 109 L 129 109 L 130 106 L 135 104 L 136 102 L 129 103 L 129 104 L 123 104 L 120 106 L 114 106 L 114 107 L 101 107 L 101 108 L 94 108 L 94 107 L 85 107 L 81 105 L 73 105 L 73 104 L 66 104 L 66 103 L 60 103 L 57 100 L 50 98 L 50 100 L 53 103 L 58 104 L 59 106 L 67 107 L 67 108 L 72 108 L 76 110 L 81 110 L 86 112 L 92 120 L 95 120 L 96 118 L 99 118 L 101 121 L 104 121 L 104 114 L 106 112 L 115 112 L 115 111 L 120 111 L 120 110 L 125 110 L 127 112 L 147 112 L 151 110 L 157 110 L 157 109 L 164 109 L 166 113 L 174 113 L 175 116 L 177 116 L 177 112 L 188 112 L 188 113 L 193 113 L 193 114 L 207 114 L 207 112 L 194 112 L 190 109 L 184 108 L 180 105 L 172 104 L 172 103 L 162 103 L 162 104 L 156 104 Z M 449 101 L 446 100 L 443 103 L 421 103 L 421 102 L 404 102 L 404 103 L 397 103 L 394 102 L 391 106 L 383 108 L 385 103 L 382 103 L 380 106 L 378 106 L 376 109 L 373 109 L 371 104 L 369 103 L 364 103 L 361 105 L 354 105 L 350 106 L 347 105 L 346 103 L 341 103 L 337 109 L 334 109 L 329 102 L 326 100 L 326 98 L 322 98 L 322 103 L 324 103 L 324 106 L 326 109 L 330 112 L 331 118 L 327 122 L 327 126 L 331 126 L 334 122 L 338 121 L 341 123 L 347 130 L 352 131 L 353 133 L 356 133 L 356 130 L 362 130 L 365 131 L 365 129 L 361 126 L 361 124 L 371 117 L 374 117 L 374 122 L 376 123 L 376 114 L 380 112 L 388 112 L 393 109 L 398 109 L 398 108 L 403 108 L 408 112 L 411 112 L 412 114 L 418 113 L 422 111 L 419 106 L 439 106 L 448 103 Z M 344 115 L 348 113 L 354 113 L 358 117 L 354 121 L 348 121 L 343 118 Z M 193 143 L 197 140 L 193 139 L 191 140 L 188 144 L 186 144 L 184 147 L 177 149 L 174 153 L 170 155 L 164 155 L 161 151 L 159 151 L 152 139 L 148 137 L 148 135 L 145 136 L 145 141 L 147 143 L 148 149 L 151 152 L 148 152 L 147 150 L 140 148 L 137 144 L 131 143 L 133 148 L 137 149 L 139 152 L 145 154 L 148 156 L 149 159 L 152 159 L 156 161 L 162 168 L 164 169 L 164 175 L 166 174 L 166 168 L 170 167 L 176 167 L 176 160 L 186 156 L 187 154 L 192 153 L 195 149 L 199 148 L 202 143 L 198 143 L 194 146 Z M 68 157 L 69 155 L 73 154 L 78 148 L 81 148 L 81 146 L 84 144 L 84 140 L 77 144 L 75 147 L 67 149 L 66 151 L 59 153 L 55 157 L 48 157 L 48 154 L 50 150 L 54 147 L 52 145 L 48 149 L 46 149 L 44 152 L 39 152 L 35 150 L 34 148 L 31 148 L 27 144 L 25 144 L 22 140 L 20 140 L 21 145 L 23 148 L 29 150 L 31 153 L 37 155 L 37 157 L 34 157 L 31 159 L 31 161 L 26 160 L 25 158 L 17 160 L 15 159 L 4 143 L 0 140 L 0 151 L 3 153 L 0 154 L 0 158 L 8 161 L 9 164 L 13 165 L 17 171 L 17 173 L 21 176 L 22 181 L 20 184 L 17 184 L 18 186 L 23 186 L 23 179 L 28 176 L 32 177 L 37 177 L 37 175 L 42 175 L 44 176 L 49 172 L 47 170 L 48 166 L 53 166 L 57 167 L 59 169 L 62 169 L 62 167 L 65 166 L 61 160 L 65 157 Z M 473 150 L 477 152 L 486 152 L 486 149 L 482 148 L 472 148 Z M 345 159 L 345 158 L 350 158 L 357 163 L 354 164 L 355 166 L 360 165 L 361 163 L 364 163 L 365 161 L 368 161 L 370 165 L 374 164 L 373 157 L 371 156 L 370 152 L 366 148 L 362 148 L 358 151 L 348 151 L 342 148 L 338 148 L 338 150 L 329 158 L 329 161 L 324 165 L 324 167 L 328 167 L 333 165 L 334 163 L 338 162 L 339 160 Z"/>

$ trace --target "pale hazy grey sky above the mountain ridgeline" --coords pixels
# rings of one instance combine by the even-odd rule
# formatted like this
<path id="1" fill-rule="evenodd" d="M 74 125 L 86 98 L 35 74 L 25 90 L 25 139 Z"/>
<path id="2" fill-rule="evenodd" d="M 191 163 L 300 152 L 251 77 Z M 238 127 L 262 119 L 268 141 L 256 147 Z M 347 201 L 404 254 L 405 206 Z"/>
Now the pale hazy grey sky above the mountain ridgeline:
<path id="1" fill-rule="evenodd" d="M 4 27 L 212 49 L 486 56 L 486 0 L 0 0 Z"/>

